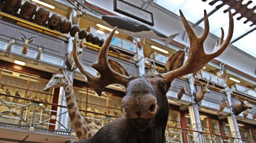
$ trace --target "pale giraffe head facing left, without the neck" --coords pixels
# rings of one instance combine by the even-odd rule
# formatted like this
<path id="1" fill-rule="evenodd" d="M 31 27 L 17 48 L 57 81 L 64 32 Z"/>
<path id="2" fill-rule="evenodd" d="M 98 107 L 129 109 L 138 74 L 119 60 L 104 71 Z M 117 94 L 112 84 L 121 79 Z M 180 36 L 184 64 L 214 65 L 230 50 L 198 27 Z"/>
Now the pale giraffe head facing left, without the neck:
<path id="1" fill-rule="evenodd" d="M 64 73 L 63 69 L 60 69 L 60 71 L 57 74 L 52 75 L 52 78 L 48 81 L 43 90 L 46 91 L 51 88 L 62 87 L 66 83 L 66 79 L 66 74 Z"/>

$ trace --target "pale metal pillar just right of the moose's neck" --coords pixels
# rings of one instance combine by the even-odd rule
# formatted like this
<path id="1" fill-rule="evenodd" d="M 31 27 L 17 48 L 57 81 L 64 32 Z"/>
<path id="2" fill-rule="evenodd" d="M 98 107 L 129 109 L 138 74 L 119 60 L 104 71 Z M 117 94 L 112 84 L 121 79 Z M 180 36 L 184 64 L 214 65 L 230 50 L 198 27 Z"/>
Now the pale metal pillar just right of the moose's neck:
<path id="1" fill-rule="evenodd" d="M 195 84 L 194 77 L 190 74 L 189 75 L 190 94 L 193 94 L 195 91 L 194 84 Z M 199 116 L 198 105 L 194 102 L 194 96 L 192 96 L 191 98 L 192 98 L 192 105 L 189 106 L 189 114 L 190 114 L 192 130 L 202 131 L 202 124 Z M 197 141 L 198 143 L 204 143 L 203 135 L 197 132 L 194 132 L 193 134 L 194 134 L 195 141 Z"/>

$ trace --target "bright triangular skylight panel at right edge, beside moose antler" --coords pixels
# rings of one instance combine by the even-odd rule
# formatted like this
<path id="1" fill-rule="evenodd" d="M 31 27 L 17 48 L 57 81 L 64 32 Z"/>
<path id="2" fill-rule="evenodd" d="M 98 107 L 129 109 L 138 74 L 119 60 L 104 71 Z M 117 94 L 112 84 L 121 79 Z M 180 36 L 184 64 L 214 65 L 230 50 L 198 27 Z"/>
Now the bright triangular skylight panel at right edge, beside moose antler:
<path id="1" fill-rule="evenodd" d="M 256 30 L 234 42 L 232 45 L 256 58 Z"/>

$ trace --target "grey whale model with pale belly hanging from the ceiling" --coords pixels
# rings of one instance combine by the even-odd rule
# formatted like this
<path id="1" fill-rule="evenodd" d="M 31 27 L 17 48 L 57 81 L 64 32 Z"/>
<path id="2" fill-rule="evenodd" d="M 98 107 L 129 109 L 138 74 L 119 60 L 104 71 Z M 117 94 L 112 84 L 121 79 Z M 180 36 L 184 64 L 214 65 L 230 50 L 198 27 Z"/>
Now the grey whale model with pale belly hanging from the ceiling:
<path id="1" fill-rule="evenodd" d="M 171 42 L 179 34 L 173 34 L 171 36 L 166 36 L 161 32 L 157 31 L 153 27 L 146 25 L 137 20 L 133 20 L 127 17 L 105 15 L 102 16 L 104 20 L 111 28 L 118 27 L 118 31 L 129 35 L 131 37 L 137 37 L 142 39 L 161 39 L 165 40 L 165 45 Z"/>

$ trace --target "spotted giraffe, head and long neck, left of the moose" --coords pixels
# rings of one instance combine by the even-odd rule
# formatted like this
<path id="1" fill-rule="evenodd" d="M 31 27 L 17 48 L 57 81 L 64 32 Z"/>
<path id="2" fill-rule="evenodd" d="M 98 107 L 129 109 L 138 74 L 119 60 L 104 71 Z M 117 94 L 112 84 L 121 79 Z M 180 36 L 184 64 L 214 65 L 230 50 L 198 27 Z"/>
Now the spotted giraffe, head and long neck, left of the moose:
<path id="1" fill-rule="evenodd" d="M 62 87 L 65 91 L 65 98 L 67 104 L 67 112 L 71 119 L 71 124 L 74 132 L 78 136 L 78 139 L 85 139 L 94 135 L 92 129 L 83 120 L 79 108 L 76 104 L 76 98 L 74 96 L 72 82 L 68 76 L 64 73 L 63 69 L 57 74 L 53 74 L 50 81 L 46 84 L 44 90 L 51 88 Z"/>

